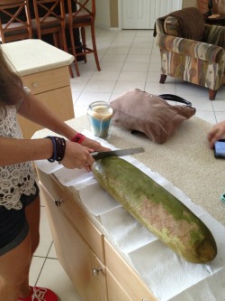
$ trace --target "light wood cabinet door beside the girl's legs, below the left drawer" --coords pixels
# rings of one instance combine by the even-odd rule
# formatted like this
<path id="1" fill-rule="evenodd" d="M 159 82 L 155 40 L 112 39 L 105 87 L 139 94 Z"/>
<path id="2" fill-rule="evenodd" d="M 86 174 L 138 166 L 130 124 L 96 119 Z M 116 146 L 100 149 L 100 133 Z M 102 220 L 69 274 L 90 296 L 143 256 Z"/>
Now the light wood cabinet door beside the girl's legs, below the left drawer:
<path id="1" fill-rule="evenodd" d="M 58 210 L 51 195 L 42 185 L 40 185 L 40 189 L 41 195 L 45 199 L 58 261 L 83 300 L 97 301 L 93 297 L 94 281 L 88 245 L 70 221 Z"/>

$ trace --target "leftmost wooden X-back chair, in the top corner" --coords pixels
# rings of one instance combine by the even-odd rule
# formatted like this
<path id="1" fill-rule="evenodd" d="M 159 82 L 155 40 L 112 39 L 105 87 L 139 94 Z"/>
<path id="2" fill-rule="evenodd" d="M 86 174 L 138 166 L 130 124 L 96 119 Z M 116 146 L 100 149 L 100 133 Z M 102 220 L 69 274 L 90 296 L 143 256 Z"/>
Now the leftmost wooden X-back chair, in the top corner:
<path id="1" fill-rule="evenodd" d="M 14 42 L 31 39 L 31 15 L 28 0 L 0 1 L 0 40 Z"/>

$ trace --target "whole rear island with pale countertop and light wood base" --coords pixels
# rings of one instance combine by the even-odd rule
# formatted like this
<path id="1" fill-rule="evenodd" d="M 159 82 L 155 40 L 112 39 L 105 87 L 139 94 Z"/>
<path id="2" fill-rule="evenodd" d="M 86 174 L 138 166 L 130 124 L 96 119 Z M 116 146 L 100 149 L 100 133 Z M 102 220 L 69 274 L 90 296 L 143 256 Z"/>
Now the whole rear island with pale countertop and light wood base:
<path id="1" fill-rule="evenodd" d="M 68 66 L 74 57 L 39 39 L 8 42 L 1 45 L 6 57 L 41 102 L 62 120 L 74 118 Z M 18 117 L 23 137 L 31 136 L 41 127 Z"/>

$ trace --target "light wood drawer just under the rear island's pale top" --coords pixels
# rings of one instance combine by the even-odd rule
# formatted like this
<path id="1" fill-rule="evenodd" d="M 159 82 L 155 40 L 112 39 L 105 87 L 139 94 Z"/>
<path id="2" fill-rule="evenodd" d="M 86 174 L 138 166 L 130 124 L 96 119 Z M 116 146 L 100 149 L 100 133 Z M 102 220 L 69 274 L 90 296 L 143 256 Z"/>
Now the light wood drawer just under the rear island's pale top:
<path id="1" fill-rule="evenodd" d="M 32 94 L 39 94 L 70 84 L 67 66 L 25 75 L 22 80 L 23 85 L 31 89 Z"/>

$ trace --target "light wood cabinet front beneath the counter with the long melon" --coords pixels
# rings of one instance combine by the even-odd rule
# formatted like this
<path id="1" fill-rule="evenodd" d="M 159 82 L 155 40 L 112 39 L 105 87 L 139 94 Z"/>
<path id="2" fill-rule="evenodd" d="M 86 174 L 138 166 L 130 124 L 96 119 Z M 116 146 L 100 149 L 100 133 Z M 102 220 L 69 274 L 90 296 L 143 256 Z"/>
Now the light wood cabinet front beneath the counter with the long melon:
<path id="1" fill-rule="evenodd" d="M 58 261 L 84 301 L 155 301 L 78 204 L 78 195 L 38 170 Z"/>

